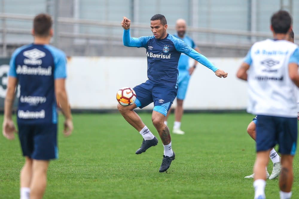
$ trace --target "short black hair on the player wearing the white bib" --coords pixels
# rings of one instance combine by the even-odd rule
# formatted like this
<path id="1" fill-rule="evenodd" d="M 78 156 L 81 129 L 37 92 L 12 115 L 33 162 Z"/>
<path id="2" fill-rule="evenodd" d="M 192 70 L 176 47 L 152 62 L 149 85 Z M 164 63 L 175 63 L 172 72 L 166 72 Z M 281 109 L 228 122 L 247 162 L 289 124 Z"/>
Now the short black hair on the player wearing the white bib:
<path id="1" fill-rule="evenodd" d="M 274 30 L 274 33 L 286 34 L 289 31 L 291 24 L 292 17 L 285 10 L 279 10 L 271 17 L 271 26 Z"/>

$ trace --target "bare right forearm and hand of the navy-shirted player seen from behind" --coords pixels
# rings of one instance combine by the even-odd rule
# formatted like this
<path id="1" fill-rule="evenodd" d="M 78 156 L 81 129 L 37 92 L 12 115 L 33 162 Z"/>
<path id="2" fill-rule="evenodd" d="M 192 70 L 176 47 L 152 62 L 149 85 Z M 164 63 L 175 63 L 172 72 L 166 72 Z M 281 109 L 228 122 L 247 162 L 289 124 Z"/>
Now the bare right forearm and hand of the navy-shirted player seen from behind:
<path id="1" fill-rule="evenodd" d="M 68 97 L 65 90 L 65 79 L 56 79 L 55 80 L 55 95 L 57 97 L 57 101 L 59 101 L 62 113 L 65 116 L 64 122 L 64 135 L 69 136 L 73 130 L 73 122 L 72 122 L 72 115 L 71 109 L 68 104 Z"/>

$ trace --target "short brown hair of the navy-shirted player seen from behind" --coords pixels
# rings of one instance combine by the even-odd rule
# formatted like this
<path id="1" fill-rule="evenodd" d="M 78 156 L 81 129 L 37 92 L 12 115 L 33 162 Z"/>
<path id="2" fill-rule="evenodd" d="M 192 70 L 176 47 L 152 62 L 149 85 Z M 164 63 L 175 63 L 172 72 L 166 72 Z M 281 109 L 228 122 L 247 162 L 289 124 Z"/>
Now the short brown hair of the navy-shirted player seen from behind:
<path id="1" fill-rule="evenodd" d="M 45 37 L 50 33 L 50 29 L 52 27 L 53 20 L 48 14 L 38 14 L 33 19 L 33 30 L 34 35 Z"/>

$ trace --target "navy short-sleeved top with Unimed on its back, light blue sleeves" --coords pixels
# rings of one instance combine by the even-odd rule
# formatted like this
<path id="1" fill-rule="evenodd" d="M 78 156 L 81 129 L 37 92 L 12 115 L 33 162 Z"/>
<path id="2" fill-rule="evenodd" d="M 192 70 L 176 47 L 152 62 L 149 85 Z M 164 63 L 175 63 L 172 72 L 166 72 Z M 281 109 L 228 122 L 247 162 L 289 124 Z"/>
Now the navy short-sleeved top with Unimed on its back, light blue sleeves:
<path id="1" fill-rule="evenodd" d="M 8 76 L 20 85 L 19 124 L 57 124 L 54 79 L 66 78 L 65 54 L 51 45 L 29 44 L 16 49 Z"/>

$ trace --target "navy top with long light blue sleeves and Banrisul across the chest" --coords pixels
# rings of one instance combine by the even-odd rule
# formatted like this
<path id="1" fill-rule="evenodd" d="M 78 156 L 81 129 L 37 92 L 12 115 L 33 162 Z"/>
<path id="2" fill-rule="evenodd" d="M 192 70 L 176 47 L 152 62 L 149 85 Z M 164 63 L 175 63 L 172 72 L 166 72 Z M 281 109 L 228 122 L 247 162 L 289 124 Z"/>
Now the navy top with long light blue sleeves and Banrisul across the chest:
<path id="1" fill-rule="evenodd" d="M 147 77 L 152 81 L 177 88 L 178 63 L 181 53 L 195 59 L 213 70 L 213 72 L 218 70 L 204 55 L 196 52 L 184 41 L 170 34 L 167 34 L 166 38 L 161 40 L 156 39 L 154 36 L 131 38 L 129 30 L 123 30 L 123 45 L 146 48 Z"/>

